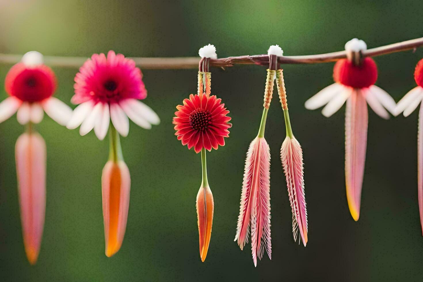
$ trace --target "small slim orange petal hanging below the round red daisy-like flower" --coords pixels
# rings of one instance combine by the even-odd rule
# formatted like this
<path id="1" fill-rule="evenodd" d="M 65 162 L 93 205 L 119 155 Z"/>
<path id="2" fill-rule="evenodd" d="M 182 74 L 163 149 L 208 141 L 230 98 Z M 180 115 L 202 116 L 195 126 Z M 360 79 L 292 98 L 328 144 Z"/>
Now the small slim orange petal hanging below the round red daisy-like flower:
<path id="1" fill-rule="evenodd" d="M 214 201 L 209 187 L 201 187 L 197 194 L 198 235 L 200 242 L 200 257 L 204 262 L 209 250 L 211 225 L 213 225 Z"/>

